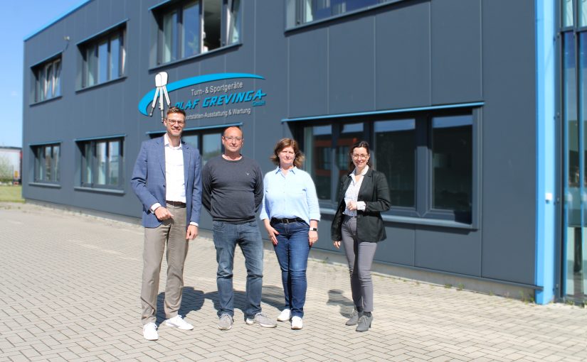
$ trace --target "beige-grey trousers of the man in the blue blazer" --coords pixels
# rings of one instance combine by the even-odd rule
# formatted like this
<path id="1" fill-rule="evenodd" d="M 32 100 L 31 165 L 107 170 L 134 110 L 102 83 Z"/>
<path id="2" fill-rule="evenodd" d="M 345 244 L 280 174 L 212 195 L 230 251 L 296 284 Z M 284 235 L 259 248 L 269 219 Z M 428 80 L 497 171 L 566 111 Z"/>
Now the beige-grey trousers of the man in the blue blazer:
<path id="1" fill-rule="evenodd" d="M 157 295 L 163 251 L 167 244 L 167 281 L 165 283 L 165 318 L 177 315 L 184 291 L 184 263 L 188 254 L 186 208 L 167 205 L 173 219 L 157 228 L 144 229 L 143 276 L 141 287 L 142 322 L 157 320 Z"/>

